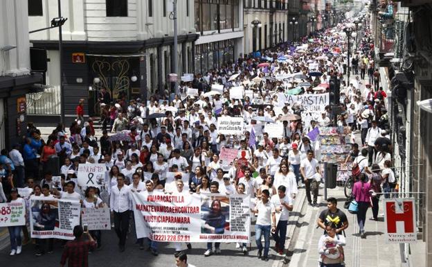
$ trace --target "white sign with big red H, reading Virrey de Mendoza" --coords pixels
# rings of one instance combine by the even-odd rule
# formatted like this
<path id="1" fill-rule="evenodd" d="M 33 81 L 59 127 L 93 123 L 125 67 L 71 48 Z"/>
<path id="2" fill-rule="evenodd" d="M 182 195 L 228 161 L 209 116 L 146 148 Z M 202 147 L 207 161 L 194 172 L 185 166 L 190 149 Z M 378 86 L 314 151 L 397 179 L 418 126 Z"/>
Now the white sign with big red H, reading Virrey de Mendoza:
<path id="1" fill-rule="evenodd" d="M 384 199 L 386 243 L 416 243 L 414 198 Z"/>

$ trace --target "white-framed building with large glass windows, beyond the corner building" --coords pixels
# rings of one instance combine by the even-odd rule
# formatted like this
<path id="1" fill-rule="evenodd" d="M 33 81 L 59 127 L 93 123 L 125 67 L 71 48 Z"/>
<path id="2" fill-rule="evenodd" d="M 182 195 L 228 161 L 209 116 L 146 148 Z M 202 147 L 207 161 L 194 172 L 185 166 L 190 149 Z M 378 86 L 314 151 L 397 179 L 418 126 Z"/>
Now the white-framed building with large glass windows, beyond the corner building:
<path id="1" fill-rule="evenodd" d="M 243 0 L 195 0 L 195 73 L 205 74 L 243 55 Z"/>

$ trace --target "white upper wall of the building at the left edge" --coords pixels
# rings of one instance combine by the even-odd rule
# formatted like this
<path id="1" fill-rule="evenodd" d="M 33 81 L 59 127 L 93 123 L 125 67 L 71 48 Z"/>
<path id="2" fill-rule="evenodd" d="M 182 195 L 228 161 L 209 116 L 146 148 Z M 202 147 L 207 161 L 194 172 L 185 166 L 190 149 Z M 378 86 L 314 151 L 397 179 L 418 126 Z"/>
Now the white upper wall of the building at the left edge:
<path id="1" fill-rule="evenodd" d="M 0 1 L 0 49 L 7 45 L 17 46 L 10 51 L 0 51 L 0 76 L 30 73 L 27 15 L 26 0 Z"/>

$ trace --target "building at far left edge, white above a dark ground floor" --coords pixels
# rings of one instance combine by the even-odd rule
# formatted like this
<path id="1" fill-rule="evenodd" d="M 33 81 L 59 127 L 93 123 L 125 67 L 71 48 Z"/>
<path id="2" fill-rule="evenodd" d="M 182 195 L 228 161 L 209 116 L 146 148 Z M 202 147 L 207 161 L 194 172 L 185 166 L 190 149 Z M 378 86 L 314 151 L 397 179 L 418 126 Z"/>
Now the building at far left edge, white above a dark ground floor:
<path id="1" fill-rule="evenodd" d="M 20 19 L 16 19 L 20 18 Z M 30 71 L 27 1 L 0 1 L 0 149 L 26 135 L 26 94 L 42 82 Z"/>

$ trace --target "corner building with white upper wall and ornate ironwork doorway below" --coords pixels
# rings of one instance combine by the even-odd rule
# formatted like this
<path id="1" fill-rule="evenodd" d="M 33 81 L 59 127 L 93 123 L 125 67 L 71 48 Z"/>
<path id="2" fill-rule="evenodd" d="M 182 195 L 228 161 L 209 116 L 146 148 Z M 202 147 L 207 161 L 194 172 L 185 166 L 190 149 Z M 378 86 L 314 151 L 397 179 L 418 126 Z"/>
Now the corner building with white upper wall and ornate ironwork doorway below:
<path id="1" fill-rule="evenodd" d="M 86 115 L 98 114 L 97 94 L 102 87 L 114 97 L 166 95 L 174 57 L 178 58 L 179 75 L 194 72 L 198 37 L 194 0 L 177 1 L 177 51 L 173 49 L 171 0 L 32 0 L 28 1 L 30 31 L 50 26 L 49 21 L 59 16 L 60 2 L 61 15 L 68 18 L 62 27 L 61 79 L 66 124 L 75 119 L 80 98 L 86 101 Z M 28 95 L 34 121 L 41 121 L 41 114 L 60 118 L 58 40 L 57 28 L 30 34 L 34 47 L 48 50 L 44 81 L 51 87 L 42 95 Z"/>

